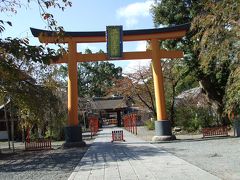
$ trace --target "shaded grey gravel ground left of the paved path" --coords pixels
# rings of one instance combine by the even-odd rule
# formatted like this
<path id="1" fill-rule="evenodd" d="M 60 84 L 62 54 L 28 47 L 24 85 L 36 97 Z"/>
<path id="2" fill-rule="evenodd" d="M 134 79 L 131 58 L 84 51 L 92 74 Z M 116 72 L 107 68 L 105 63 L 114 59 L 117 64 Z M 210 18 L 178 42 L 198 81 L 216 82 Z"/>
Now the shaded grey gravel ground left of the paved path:
<path id="1" fill-rule="evenodd" d="M 16 153 L 6 153 L 7 143 L 0 143 L 0 180 L 66 180 L 71 175 L 93 140 L 83 148 L 60 148 L 53 142 L 53 150 L 23 151 L 23 143 L 15 143 Z M 9 151 L 9 150 L 8 150 Z M 8 152 L 7 151 L 7 152 Z"/>

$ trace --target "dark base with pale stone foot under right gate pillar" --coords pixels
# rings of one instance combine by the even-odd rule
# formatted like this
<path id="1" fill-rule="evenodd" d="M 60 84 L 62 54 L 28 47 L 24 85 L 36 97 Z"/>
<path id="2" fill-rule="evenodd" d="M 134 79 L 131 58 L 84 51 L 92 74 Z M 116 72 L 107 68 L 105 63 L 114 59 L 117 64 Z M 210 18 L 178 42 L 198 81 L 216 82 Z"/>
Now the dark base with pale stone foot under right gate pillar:
<path id="1" fill-rule="evenodd" d="M 155 121 L 155 133 L 152 141 L 170 141 L 175 140 L 176 136 L 172 134 L 171 122 L 169 120 Z"/>

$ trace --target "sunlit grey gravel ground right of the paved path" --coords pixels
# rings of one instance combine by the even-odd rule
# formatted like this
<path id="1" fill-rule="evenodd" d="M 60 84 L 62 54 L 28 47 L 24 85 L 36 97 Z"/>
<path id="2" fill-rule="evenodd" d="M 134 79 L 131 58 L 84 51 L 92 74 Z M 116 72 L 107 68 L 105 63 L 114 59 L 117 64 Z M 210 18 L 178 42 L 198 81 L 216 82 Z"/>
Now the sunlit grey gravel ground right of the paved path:
<path id="1" fill-rule="evenodd" d="M 139 137 L 150 140 L 154 131 L 139 128 Z M 204 169 L 221 179 L 240 180 L 240 138 L 202 135 L 179 135 L 172 142 L 154 144 L 156 147 Z"/>

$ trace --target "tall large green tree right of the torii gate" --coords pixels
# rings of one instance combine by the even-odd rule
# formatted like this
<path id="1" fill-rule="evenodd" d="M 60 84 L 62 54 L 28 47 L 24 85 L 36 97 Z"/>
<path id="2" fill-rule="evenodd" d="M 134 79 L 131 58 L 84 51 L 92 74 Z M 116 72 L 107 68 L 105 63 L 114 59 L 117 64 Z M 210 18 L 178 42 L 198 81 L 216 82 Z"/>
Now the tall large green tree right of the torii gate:
<path id="1" fill-rule="evenodd" d="M 239 57 L 240 3 L 234 0 L 163 0 L 152 8 L 154 23 L 191 23 L 181 41 L 189 72 L 197 78 L 209 102 L 221 119 L 232 64 Z"/>

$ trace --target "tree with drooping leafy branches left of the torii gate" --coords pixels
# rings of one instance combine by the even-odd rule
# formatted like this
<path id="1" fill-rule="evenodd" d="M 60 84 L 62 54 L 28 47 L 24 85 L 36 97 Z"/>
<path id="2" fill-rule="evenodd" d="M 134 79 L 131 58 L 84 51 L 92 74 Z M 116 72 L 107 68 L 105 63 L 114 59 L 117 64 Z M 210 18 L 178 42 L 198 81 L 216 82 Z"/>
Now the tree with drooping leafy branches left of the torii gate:
<path id="1" fill-rule="evenodd" d="M 1 1 L 1 13 L 17 13 L 18 8 L 31 1 Z M 50 29 L 62 31 L 57 25 L 53 15 L 48 13 L 50 7 L 60 8 L 71 6 L 68 0 L 37 0 L 41 9 L 41 15 L 48 23 Z M 23 4 L 25 3 L 25 4 Z M 5 25 L 11 22 L 0 20 L 0 33 L 4 31 Z M 0 39 L 0 96 L 10 98 L 17 114 L 21 118 L 21 125 L 29 126 L 37 124 L 41 126 L 47 123 L 44 116 L 51 108 L 52 116 L 59 117 L 61 101 L 54 90 L 47 86 L 43 79 L 49 68 L 46 66 L 51 60 L 58 58 L 61 54 L 43 46 L 32 46 L 28 39 L 6 38 Z"/>

